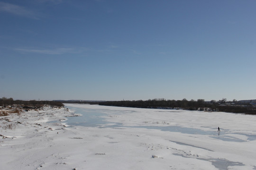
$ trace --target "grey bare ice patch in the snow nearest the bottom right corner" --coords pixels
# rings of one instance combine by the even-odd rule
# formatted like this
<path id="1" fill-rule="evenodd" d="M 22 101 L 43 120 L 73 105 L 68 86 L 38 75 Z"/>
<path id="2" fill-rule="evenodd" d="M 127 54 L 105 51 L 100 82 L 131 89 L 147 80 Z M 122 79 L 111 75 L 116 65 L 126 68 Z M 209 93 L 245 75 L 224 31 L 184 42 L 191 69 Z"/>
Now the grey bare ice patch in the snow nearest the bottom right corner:
<path id="1" fill-rule="evenodd" d="M 184 158 L 191 158 L 189 156 L 184 156 L 183 154 L 179 154 L 179 153 L 173 153 L 173 154 L 177 155 L 177 156 L 182 156 Z M 195 157 L 195 158 L 199 159 L 199 160 L 203 160 L 203 161 L 210 161 L 211 164 L 219 170 L 229 170 L 228 169 L 229 166 L 244 166 L 245 165 L 242 162 L 234 162 L 234 161 L 229 161 L 229 160 L 220 159 L 220 158 L 213 158 L 213 159 L 205 159 L 205 158 L 197 158 L 197 157 Z"/>

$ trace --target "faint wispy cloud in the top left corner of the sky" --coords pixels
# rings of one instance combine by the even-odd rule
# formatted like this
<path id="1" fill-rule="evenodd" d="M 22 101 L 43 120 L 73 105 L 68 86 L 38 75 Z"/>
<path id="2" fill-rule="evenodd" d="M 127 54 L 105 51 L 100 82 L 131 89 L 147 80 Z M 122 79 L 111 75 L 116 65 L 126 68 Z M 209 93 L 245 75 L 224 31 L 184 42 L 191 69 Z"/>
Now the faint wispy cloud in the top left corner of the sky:
<path id="1" fill-rule="evenodd" d="M 22 17 L 29 17 L 33 19 L 39 19 L 36 14 L 22 6 L 0 2 L 0 12 L 7 12 L 13 15 L 18 15 Z"/>

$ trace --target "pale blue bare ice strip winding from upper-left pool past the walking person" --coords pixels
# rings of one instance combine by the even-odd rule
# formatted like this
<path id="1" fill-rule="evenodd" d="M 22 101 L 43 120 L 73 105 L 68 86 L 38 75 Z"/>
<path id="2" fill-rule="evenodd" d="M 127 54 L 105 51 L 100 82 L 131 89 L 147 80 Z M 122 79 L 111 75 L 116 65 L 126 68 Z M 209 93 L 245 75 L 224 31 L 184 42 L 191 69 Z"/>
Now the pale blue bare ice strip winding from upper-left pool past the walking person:
<path id="1" fill-rule="evenodd" d="M 134 127 L 134 128 L 146 128 L 146 129 L 158 129 L 162 131 L 170 131 L 170 132 L 180 132 L 184 134 L 198 134 L 198 135 L 206 135 L 211 136 L 212 138 L 223 140 L 223 141 L 232 141 L 232 142 L 245 142 L 247 140 L 256 140 L 256 135 L 250 135 L 245 133 L 234 133 L 236 135 L 243 135 L 247 137 L 247 140 L 237 138 L 234 136 L 229 136 L 230 130 L 224 129 L 221 130 L 221 133 L 217 132 L 217 127 L 205 127 L 207 129 L 210 128 L 210 130 L 203 130 L 193 127 L 181 127 L 181 126 L 157 126 L 160 124 L 159 122 L 156 122 L 153 126 L 125 126 L 121 122 L 111 122 L 111 120 L 106 119 L 107 113 L 109 110 L 103 110 L 103 109 L 88 109 L 88 108 L 80 108 L 80 107 L 67 107 L 70 110 L 73 110 L 75 114 L 79 114 L 81 116 L 79 117 L 70 117 L 66 120 L 66 123 L 68 125 L 72 126 L 85 126 L 85 127 Z M 164 110 L 167 112 L 166 110 Z M 175 112 L 177 110 L 169 111 L 170 113 Z M 112 111 L 111 111 L 112 112 Z M 117 114 L 120 111 L 117 110 Z M 133 113 L 134 110 L 130 110 L 130 113 Z M 159 111 L 161 112 L 161 111 Z M 125 111 L 126 114 L 128 114 L 128 110 Z M 168 120 L 168 117 L 165 121 Z M 111 124 L 111 125 L 109 125 Z M 146 122 L 145 122 L 146 124 Z"/>

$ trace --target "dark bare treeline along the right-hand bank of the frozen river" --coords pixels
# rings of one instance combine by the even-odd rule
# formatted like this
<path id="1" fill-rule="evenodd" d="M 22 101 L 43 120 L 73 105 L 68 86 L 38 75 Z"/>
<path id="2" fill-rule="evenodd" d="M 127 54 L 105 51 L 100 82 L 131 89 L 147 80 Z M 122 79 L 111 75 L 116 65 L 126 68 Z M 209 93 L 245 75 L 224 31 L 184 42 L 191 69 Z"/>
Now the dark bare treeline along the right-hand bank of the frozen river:
<path id="1" fill-rule="evenodd" d="M 184 110 L 207 110 L 207 111 L 223 111 L 232 113 L 256 114 L 256 106 L 249 103 L 239 103 L 236 100 L 227 101 L 222 99 L 219 101 L 205 102 L 204 99 L 197 101 L 186 99 L 183 100 L 138 100 L 138 101 L 107 101 L 100 102 L 99 105 L 120 106 L 120 107 L 135 107 L 135 108 L 150 108 L 150 109 L 184 109 Z"/>

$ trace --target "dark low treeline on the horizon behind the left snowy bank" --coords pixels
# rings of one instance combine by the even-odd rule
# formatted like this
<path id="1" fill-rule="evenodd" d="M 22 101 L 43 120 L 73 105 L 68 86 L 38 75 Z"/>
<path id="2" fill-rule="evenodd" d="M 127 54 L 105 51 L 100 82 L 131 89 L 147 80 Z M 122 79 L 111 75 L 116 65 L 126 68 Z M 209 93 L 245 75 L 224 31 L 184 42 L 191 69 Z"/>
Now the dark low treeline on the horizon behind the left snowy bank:
<path id="1" fill-rule="evenodd" d="M 57 101 L 36 101 L 36 100 L 23 101 L 23 100 L 13 100 L 13 98 L 6 98 L 6 97 L 0 98 L 0 106 L 7 107 L 12 105 L 28 106 L 33 108 L 42 107 L 44 105 L 49 105 L 52 107 L 64 106 L 62 102 L 57 102 Z"/>

